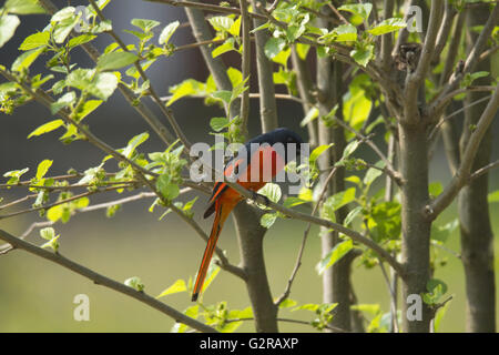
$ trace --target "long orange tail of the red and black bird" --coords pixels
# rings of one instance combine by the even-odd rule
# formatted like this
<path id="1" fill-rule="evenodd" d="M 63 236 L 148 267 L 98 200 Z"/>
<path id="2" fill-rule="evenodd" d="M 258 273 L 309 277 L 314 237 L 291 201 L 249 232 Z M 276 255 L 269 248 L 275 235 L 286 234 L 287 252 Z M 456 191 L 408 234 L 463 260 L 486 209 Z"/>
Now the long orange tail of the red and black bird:
<path id="1" fill-rule="evenodd" d="M 196 283 L 194 284 L 194 291 L 192 293 L 192 301 L 197 300 L 197 296 L 203 288 L 206 272 L 215 251 L 220 232 L 222 231 L 222 226 L 233 209 L 233 204 L 225 203 L 222 200 L 215 202 L 215 220 L 213 221 L 212 232 L 210 233 L 210 239 L 207 241 L 206 248 L 204 250 L 203 260 L 201 261 L 200 271 L 197 272 Z"/>

